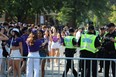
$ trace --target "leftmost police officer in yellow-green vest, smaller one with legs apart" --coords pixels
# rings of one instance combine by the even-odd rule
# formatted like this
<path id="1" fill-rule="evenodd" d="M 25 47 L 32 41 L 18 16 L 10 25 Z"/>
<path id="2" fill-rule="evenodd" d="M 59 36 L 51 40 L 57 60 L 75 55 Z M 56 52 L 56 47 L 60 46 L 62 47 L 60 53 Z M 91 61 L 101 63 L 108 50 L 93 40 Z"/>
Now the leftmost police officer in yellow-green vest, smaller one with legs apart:
<path id="1" fill-rule="evenodd" d="M 74 54 L 76 53 L 76 39 L 73 36 L 74 30 L 71 28 L 69 29 L 69 36 L 66 36 L 64 38 L 64 46 L 65 46 L 65 56 L 66 57 L 74 57 Z M 67 77 L 67 72 L 69 71 L 69 68 L 72 70 L 74 77 L 77 77 L 77 71 L 74 69 L 74 62 L 71 59 L 67 59 L 66 63 L 66 69 L 63 72 L 62 77 Z"/>

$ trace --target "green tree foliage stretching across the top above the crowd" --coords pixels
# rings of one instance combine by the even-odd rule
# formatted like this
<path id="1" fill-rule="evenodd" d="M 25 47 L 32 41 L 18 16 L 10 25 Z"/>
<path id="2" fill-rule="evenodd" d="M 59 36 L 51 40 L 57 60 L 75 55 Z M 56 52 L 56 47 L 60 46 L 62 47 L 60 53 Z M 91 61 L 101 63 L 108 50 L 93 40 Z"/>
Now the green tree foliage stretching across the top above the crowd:
<path id="1" fill-rule="evenodd" d="M 110 0 L 0 0 L 0 14 L 8 14 L 15 22 L 24 22 L 35 14 L 54 13 L 63 24 L 76 25 L 86 20 L 97 25 L 109 21 L 116 23 L 116 5 L 110 7 Z"/>

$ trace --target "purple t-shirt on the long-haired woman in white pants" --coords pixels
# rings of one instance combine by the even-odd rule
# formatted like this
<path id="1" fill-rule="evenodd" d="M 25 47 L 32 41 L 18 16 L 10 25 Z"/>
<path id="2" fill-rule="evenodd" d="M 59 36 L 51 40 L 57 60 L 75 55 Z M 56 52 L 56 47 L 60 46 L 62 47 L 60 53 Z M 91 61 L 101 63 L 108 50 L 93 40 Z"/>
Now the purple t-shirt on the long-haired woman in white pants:
<path id="1" fill-rule="evenodd" d="M 39 51 L 39 48 L 40 48 L 41 45 L 42 45 L 42 42 L 39 39 L 37 39 L 34 42 L 34 45 L 32 45 L 32 46 L 28 45 L 29 52 L 37 52 L 37 51 Z"/>

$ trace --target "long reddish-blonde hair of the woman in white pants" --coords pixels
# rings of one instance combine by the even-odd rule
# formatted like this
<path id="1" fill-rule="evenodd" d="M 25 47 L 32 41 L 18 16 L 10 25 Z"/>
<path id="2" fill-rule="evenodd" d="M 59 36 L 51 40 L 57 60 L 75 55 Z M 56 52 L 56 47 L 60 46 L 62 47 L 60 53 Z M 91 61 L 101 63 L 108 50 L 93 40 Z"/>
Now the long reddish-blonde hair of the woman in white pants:
<path id="1" fill-rule="evenodd" d="M 37 31 L 32 31 L 29 34 L 29 37 L 27 39 L 27 42 L 30 46 L 34 45 L 34 42 L 38 39 L 38 32 Z"/>

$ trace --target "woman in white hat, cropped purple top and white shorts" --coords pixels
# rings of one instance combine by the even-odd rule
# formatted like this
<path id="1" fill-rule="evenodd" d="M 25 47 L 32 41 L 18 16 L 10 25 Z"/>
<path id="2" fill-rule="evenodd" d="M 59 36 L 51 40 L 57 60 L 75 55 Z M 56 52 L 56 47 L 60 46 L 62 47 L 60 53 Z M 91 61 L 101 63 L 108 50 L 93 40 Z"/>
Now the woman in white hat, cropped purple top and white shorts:
<path id="1" fill-rule="evenodd" d="M 17 28 L 12 29 L 12 37 L 9 39 L 8 43 L 10 46 L 10 57 L 12 60 L 11 62 L 14 72 L 13 77 L 16 76 L 21 77 L 21 71 L 20 71 L 21 58 L 18 57 L 22 57 L 23 48 L 22 48 L 22 40 L 20 38 L 19 29 Z"/>

